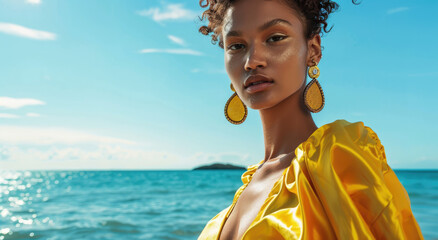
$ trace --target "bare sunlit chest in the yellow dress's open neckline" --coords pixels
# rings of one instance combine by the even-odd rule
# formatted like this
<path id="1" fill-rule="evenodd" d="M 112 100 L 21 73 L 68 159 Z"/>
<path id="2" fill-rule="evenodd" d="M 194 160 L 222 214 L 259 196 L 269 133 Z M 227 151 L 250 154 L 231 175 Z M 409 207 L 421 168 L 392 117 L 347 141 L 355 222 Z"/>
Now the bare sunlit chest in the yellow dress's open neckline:
<path id="1" fill-rule="evenodd" d="M 272 191 L 280 174 L 261 179 L 252 179 L 239 196 L 236 204 L 231 209 L 228 218 L 220 233 L 219 240 L 241 239 L 251 223 L 257 217 L 267 197 Z"/>

